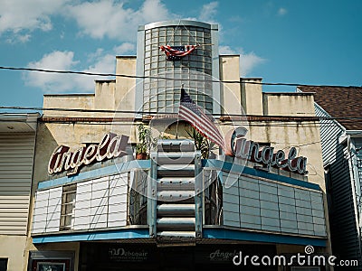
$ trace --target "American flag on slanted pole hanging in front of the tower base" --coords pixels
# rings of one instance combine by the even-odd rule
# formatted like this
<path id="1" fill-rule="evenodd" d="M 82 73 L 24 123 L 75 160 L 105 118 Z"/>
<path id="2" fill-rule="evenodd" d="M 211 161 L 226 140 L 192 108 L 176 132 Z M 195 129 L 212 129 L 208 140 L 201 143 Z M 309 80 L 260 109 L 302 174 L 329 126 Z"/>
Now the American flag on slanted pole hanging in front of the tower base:
<path id="1" fill-rule="evenodd" d="M 219 129 L 214 125 L 211 117 L 208 117 L 204 109 L 195 104 L 188 96 L 185 89 L 181 89 L 180 107 L 178 117 L 186 120 L 202 135 L 219 145 L 225 151 L 225 141 Z"/>

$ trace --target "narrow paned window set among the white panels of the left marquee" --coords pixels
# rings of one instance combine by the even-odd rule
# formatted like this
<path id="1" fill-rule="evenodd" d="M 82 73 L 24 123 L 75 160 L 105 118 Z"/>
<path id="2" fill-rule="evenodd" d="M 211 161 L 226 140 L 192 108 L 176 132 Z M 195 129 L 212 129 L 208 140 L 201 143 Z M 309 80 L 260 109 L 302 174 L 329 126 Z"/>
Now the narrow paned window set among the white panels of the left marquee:
<path id="1" fill-rule="evenodd" d="M 60 230 L 69 230 L 72 228 L 76 192 L 76 184 L 65 185 L 62 187 L 62 212 Z"/>

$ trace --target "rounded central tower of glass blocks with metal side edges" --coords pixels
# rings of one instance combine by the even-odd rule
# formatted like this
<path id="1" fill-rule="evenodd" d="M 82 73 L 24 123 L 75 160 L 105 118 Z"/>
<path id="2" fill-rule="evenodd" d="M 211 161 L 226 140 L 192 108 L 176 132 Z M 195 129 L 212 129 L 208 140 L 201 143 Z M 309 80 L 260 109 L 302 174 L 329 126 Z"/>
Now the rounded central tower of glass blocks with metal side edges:
<path id="1" fill-rule="evenodd" d="M 138 28 L 136 109 L 177 113 L 180 89 L 184 88 L 200 107 L 220 113 L 217 25 L 175 20 L 148 23 Z M 168 57 L 161 46 L 194 51 L 182 57 Z M 149 78 L 150 77 L 150 78 Z"/>

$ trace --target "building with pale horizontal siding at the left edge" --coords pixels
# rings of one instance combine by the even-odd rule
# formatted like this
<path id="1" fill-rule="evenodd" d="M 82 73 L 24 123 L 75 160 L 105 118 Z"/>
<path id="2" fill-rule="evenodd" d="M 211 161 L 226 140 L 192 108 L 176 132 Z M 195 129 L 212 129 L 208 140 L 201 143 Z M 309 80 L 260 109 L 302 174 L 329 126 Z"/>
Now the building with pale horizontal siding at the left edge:
<path id="1" fill-rule="evenodd" d="M 38 113 L 0 115 L 0 270 L 24 270 Z"/>

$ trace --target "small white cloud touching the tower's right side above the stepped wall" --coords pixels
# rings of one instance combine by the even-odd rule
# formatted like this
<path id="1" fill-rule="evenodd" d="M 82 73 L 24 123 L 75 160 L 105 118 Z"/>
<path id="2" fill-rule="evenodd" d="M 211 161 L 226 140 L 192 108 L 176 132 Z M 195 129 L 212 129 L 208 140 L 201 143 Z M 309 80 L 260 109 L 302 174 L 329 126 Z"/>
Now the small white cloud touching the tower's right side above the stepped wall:
<path id="1" fill-rule="evenodd" d="M 250 75 L 253 69 L 262 64 L 266 60 L 257 56 L 253 51 L 246 53 L 242 48 L 232 49 L 230 46 L 220 46 L 220 54 L 240 54 L 240 76 L 245 77 Z"/>

